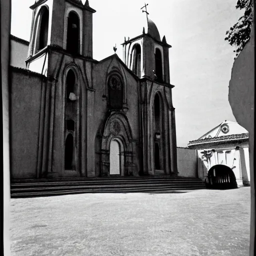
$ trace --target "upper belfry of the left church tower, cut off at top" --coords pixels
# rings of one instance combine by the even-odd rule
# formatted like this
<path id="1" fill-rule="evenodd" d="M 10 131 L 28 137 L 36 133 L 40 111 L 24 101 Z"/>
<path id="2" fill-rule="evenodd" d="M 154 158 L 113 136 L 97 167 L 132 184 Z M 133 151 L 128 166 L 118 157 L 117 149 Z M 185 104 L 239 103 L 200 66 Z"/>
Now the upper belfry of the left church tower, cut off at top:
<path id="1" fill-rule="evenodd" d="M 28 69 L 45 73 L 47 46 L 72 55 L 92 58 L 92 13 L 88 0 L 35 0 L 30 42 L 26 59 Z"/>

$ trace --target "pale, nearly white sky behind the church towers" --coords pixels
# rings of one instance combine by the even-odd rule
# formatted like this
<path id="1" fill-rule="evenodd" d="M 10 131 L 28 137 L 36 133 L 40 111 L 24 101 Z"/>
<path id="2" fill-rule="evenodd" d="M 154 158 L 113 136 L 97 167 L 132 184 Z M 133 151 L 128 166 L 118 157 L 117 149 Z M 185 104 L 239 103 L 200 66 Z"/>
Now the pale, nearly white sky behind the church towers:
<path id="1" fill-rule="evenodd" d="M 64 1 L 64 0 L 63 0 Z M 147 0 L 149 18 L 169 49 L 170 83 L 177 145 L 186 146 L 223 120 L 235 121 L 228 103 L 234 52 L 225 32 L 241 16 L 237 0 Z M 29 40 L 34 0 L 12 0 L 11 34 Z M 82 0 L 84 3 L 85 0 Z M 116 53 L 124 36 L 142 33 L 142 0 L 89 0 L 93 14 L 93 58 Z"/>

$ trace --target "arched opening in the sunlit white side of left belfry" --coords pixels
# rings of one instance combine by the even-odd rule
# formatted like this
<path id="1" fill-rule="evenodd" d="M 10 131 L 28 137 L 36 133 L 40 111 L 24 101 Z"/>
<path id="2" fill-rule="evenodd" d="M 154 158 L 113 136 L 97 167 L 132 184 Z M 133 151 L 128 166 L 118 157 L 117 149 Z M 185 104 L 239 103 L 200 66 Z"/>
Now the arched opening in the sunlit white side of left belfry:
<path id="1" fill-rule="evenodd" d="M 36 19 L 36 38 L 34 44 L 34 53 L 41 50 L 47 45 L 48 41 L 48 25 L 49 11 L 47 7 L 42 6 Z"/>

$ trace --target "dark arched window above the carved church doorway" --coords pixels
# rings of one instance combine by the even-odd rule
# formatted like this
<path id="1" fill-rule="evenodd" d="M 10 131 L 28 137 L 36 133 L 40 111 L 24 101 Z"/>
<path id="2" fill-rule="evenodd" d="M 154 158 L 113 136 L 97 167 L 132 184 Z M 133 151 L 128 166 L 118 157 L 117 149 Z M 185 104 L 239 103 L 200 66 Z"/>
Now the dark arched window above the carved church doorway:
<path id="1" fill-rule="evenodd" d="M 108 79 L 108 106 L 111 109 L 122 108 L 123 85 L 118 75 L 113 74 Z"/>

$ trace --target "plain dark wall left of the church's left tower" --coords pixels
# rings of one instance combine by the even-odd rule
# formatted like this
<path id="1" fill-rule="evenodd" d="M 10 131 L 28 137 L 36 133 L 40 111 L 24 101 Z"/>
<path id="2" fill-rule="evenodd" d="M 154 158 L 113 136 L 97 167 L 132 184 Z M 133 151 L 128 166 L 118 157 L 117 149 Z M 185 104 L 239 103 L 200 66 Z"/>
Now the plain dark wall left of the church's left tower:
<path id="1" fill-rule="evenodd" d="M 11 178 L 36 178 L 41 87 L 40 74 L 11 68 Z"/>

